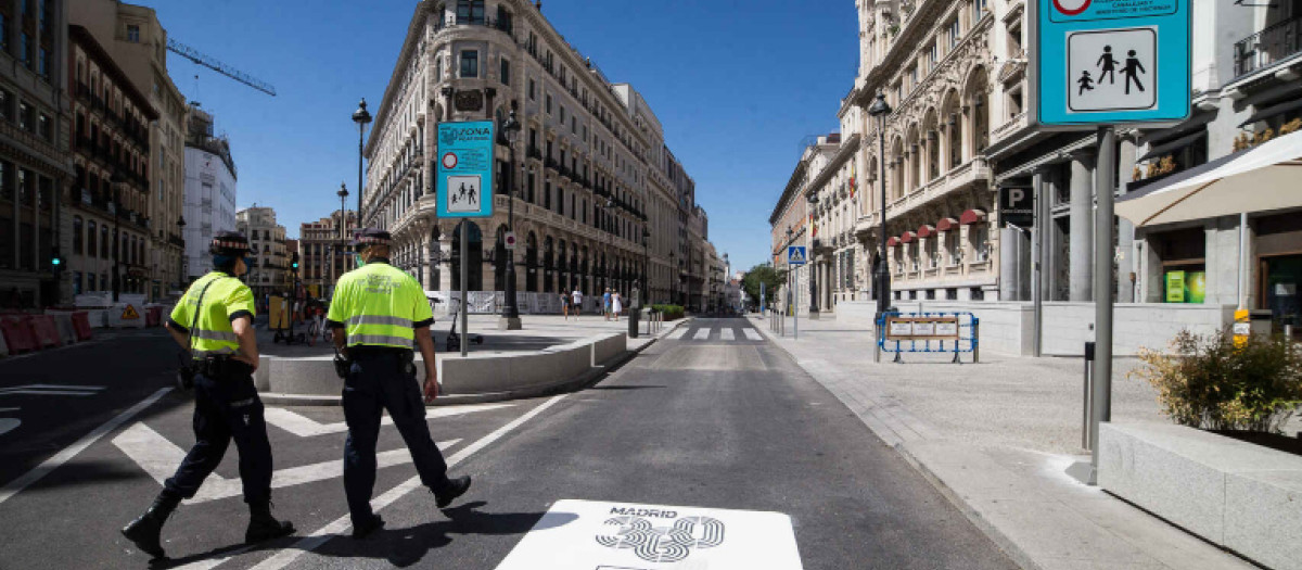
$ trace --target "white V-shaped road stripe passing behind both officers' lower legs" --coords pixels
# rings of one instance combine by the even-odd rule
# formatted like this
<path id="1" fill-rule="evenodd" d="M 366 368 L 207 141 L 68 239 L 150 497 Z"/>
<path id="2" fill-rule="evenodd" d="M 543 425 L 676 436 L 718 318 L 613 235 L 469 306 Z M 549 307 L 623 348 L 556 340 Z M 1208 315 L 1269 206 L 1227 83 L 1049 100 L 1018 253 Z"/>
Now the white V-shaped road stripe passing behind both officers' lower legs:
<path id="1" fill-rule="evenodd" d="M 447 449 L 456 445 L 461 440 L 440 441 L 439 449 Z M 143 422 L 137 422 L 132 427 L 126 428 L 117 437 L 113 439 L 113 445 L 121 449 L 135 465 L 141 466 L 145 472 L 150 474 L 154 480 L 159 482 L 161 485 L 173 472 L 176 467 L 181 465 L 185 459 L 185 450 L 168 441 L 167 437 L 159 435 Z M 395 449 L 389 452 L 380 452 L 375 454 L 375 463 L 378 468 L 392 467 L 395 465 L 410 463 L 411 454 L 402 449 Z M 283 487 L 301 485 L 305 483 L 314 483 L 326 479 L 336 479 L 344 476 L 344 462 L 324 461 L 314 465 L 305 465 L 301 467 L 289 467 L 276 470 L 271 475 L 271 488 L 279 489 Z M 199 493 L 194 498 L 187 500 L 189 504 L 199 504 L 216 501 L 219 498 L 236 497 L 243 493 L 243 484 L 238 478 L 227 479 L 217 474 L 208 475 L 203 480 L 203 487 L 199 488 Z"/>

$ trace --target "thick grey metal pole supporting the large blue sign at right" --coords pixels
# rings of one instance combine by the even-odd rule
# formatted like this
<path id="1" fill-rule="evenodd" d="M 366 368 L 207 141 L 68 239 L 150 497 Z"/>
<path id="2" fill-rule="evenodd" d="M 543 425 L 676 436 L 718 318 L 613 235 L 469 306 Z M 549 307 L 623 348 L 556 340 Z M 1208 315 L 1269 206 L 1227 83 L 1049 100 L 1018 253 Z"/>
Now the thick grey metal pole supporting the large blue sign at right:
<path id="1" fill-rule="evenodd" d="M 1116 199 L 1116 131 L 1099 128 L 1099 164 L 1094 193 L 1099 210 L 1094 219 L 1094 418 L 1090 422 L 1090 484 L 1098 484 L 1099 423 L 1112 420 L 1112 216 Z"/>

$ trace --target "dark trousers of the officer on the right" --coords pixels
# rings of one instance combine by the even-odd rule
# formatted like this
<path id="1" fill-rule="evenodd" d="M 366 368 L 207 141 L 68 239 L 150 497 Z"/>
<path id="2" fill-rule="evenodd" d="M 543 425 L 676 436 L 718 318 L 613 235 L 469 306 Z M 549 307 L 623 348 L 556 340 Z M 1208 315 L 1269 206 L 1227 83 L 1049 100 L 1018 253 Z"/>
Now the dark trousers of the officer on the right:
<path id="1" fill-rule="evenodd" d="M 381 410 L 389 411 L 411 452 L 421 483 L 431 489 L 448 484 L 448 463 L 430 437 L 424 401 L 409 357 L 401 351 L 357 353 L 344 377 L 344 419 L 348 423 L 344 492 L 354 524 L 370 521 L 374 514 L 375 440 L 380 435 Z"/>

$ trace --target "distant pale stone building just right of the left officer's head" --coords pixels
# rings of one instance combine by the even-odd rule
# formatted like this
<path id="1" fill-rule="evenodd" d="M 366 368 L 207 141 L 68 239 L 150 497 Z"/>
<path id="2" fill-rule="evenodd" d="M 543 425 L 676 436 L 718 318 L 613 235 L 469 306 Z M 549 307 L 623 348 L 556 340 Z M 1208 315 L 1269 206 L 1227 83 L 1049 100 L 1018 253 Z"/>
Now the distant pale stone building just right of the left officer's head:
<path id="1" fill-rule="evenodd" d="M 285 294 L 293 290 L 294 276 L 290 271 L 290 250 L 285 239 L 285 226 L 276 224 L 276 211 L 267 207 L 243 208 L 236 212 L 236 232 L 249 238 L 253 250 L 245 262 L 249 275 L 245 282 L 253 289 L 255 298 L 268 294 Z"/>

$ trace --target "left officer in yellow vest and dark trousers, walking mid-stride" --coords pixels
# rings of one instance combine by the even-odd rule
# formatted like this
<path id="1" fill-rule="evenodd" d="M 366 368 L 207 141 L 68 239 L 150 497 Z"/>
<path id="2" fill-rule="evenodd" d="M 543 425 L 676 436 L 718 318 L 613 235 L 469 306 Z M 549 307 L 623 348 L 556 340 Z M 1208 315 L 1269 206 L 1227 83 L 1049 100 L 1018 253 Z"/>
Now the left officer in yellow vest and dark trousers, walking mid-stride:
<path id="1" fill-rule="evenodd" d="M 251 513 L 245 531 L 247 543 L 294 532 L 288 521 L 271 515 L 271 444 L 263 420 L 262 400 L 253 384 L 258 368 L 254 338 L 254 298 L 237 278 L 247 272 L 249 241 L 237 232 L 212 239 L 215 269 L 199 277 L 176 305 L 167 329 L 190 351 L 194 371 L 194 448 L 163 484 L 154 505 L 125 528 L 122 535 L 158 558 L 163 547 L 163 523 L 182 498 L 191 498 L 203 479 L 221 463 L 233 439 L 240 450 L 240 479 Z"/>

